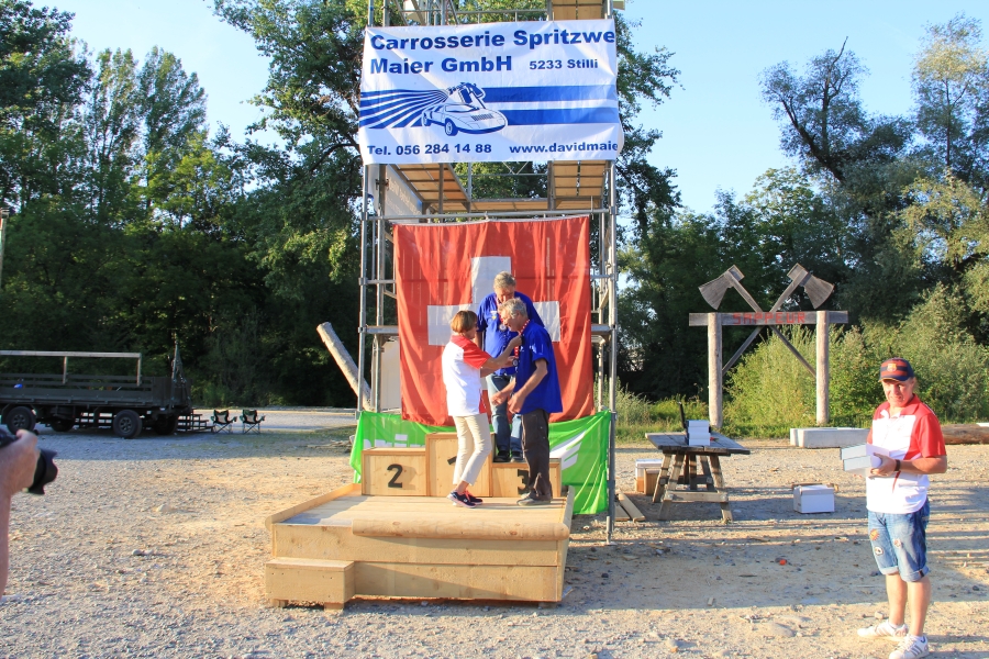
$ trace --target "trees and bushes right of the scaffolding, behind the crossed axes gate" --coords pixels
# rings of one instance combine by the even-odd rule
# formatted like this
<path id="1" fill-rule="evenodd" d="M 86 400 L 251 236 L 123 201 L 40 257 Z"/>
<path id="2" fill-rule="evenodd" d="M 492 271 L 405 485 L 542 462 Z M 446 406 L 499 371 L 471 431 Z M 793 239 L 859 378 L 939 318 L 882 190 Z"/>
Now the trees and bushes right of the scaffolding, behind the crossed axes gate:
<path id="1" fill-rule="evenodd" d="M 701 393 L 705 337 L 685 322 L 707 310 L 693 292 L 699 284 L 736 265 L 767 309 L 800 263 L 836 284 L 825 308 L 852 316 L 831 347 L 836 423 L 867 423 L 882 400 L 875 368 L 894 354 L 914 361 L 922 398 L 944 417 L 986 415 L 989 49 L 981 25 L 959 15 L 927 27 L 914 58 L 915 107 L 900 116 L 863 105 L 867 71 L 846 46 L 763 75 L 763 98 L 797 167 L 767 171 L 741 199 L 722 194 L 710 213 L 653 209 L 646 221 L 636 217 L 621 254 L 629 286 L 620 299 L 620 375 L 632 391 Z M 722 309 L 737 308 L 729 292 Z M 810 304 L 798 292 L 784 309 Z M 725 333 L 725 356 L 744 336 Z M 804 354 L 807 338 L 794 334 Z M 730 427 L 782 434 L 813 423 L 809 373 L 779 342 L 753 349 L 730 379 Z"/>

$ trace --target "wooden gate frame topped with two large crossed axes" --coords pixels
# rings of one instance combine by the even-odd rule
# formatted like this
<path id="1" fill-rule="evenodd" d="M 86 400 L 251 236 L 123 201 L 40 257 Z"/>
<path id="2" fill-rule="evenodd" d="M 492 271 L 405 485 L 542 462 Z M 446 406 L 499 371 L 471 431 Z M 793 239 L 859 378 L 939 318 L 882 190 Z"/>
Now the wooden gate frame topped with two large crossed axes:
<path id="1" fill-rule="evenodd" d="M 816 380 L 818 387 L 818 423 L 823 424 L 827 422 L 829 411 L 827 411 L 827 386 L 830 380 L 830 373 L 827 368 L 827 359 L 829 359 L 829 348 L 827 348 L 827 327 L 833 323 L 847 323 L 848 314 L 843 311 L 819 311 L 819 312 L 780 312 L 779 308 L 784 305 L 784 303 L 793 294 L 798 288 L 803 288 L 804 292 L 807 292 L 808 298 L 813 304 L 814 309 L 820 308 L 831 294 L 834 292 L 834 284 L 824 281 L 818 277 L 814 277 L 811 272 L 809 272 L 803 266 L 797 264 L 793 268 L 787 272 L 787 277 L 790 279 L 789 286 L 787 286 L 786 290 L 780 294 L 779 299 L 777 299 L 776 304 L 768 312 L 764 312 L 762 308 L 759 308 L 758 302 L 745 290 L 745 287 L 742 286 L 742 279 L 745 276 L 742 271 L 732 266 L 727 270 L 725 270 L 720 277 L 709 281 L 708 283 L 700 287 L 701 295 L 703 295 L 704 300 L 715 310 L 721 306 L 721 301 L 724 299 L 725 292 L 730 288 L 735 289 L 742 299 L 748 303 L 748 305 L 753 309 L 755 314 L 751 313 L 714 313 L 714 314 L 701 314 L 701 313 L 692 313 L 690 314 L 690 325 L 699 326 L 707 325 L 709 327 L 708 332 L 708 348 L 709 348 L 709 407 L 711 413 L 711 424 L 714 426 L 722 425 L 722 411 L 721 411 L 721 383 L 724 378 L 724 373 L 726 373 L 742 357 L 748 346 L 752 345 L 762 330 L 763 326 L 768 326 L 769 330 L 784 343 L 784 345 L 789 348 L 789 350 L 793 354 L 794 357 L 810 371 L 811 376 Z M 818 351 L 818 368 L 815 369 L 810 364 L 808 364 L 807 359 L 793 347 L 793 344 L 782 335 L 782 333 L 777 330 L 776 325 L 807 325 L 807 324 L 816 324 L 818 325 L 818 342 L 816 342 L 816 351 Z M 722 325 L 757 325 L 757 327 L 752 332 L 748 338 L 745 339 L 745 343 L 735 350 L 735 354 L 729 359 L 727 364 L 724 367 L 721 367 L 721 326 Z"/>

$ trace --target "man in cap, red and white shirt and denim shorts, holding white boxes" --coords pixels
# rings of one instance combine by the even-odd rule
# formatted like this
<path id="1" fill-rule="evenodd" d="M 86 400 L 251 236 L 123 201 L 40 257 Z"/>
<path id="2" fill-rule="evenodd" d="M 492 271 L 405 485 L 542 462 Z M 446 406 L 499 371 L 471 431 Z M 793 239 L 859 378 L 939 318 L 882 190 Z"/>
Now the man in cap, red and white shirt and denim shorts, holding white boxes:
<path id="1" fill-rule="evenodd" d="M 886 402 L 873 415 L 868 443 L 880 465 L 866 479 L 869 541 L 879 571 L 886 576 L 889 619 L 858 630 L 864 638 L 899 643 L 889 659 L 916 659 L 931 654 L 924 622 L 931 603 L 926 528 L 930 473 L 947 470 L 941 423 L 913 392 L 913 367 L 901 357 L 879 367 Z M 910 626 L 905 624 L 910 604 Z"/>

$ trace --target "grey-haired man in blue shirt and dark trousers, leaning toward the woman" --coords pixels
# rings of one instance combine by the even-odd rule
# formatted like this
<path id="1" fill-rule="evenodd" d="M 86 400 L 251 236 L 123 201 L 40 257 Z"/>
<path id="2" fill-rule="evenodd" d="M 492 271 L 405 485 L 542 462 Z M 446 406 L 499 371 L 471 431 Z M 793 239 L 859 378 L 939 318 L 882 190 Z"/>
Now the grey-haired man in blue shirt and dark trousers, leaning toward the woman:
<path id="1" fill-rule="evenodd" d="M 510 298 L 498 306 L 502 321 L 522 335 L 515 348 L 515 377 L 494 394 L 496 404 L 508 402 L 509 411 L 522 417 L 522 447 L 529 462 L 529 495 L 519 505 L 545 505 L 553 500 L 549 482 L 549 414 L 563 412 L 553 340 L 542 325 L 531 322 L 525 303 Z"/>

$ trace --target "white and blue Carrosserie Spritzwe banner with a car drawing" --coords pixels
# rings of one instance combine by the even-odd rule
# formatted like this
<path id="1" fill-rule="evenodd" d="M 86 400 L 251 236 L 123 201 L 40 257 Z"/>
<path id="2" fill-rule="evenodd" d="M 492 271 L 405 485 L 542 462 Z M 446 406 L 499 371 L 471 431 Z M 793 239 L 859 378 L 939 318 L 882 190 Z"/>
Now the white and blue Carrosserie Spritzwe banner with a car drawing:
<path id="1" fill-rule="evenodd" d="M 366 165 L 613 160 L 614 21 L 368 27 Z"/>

